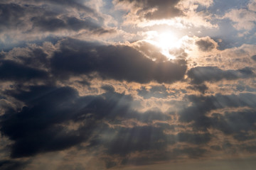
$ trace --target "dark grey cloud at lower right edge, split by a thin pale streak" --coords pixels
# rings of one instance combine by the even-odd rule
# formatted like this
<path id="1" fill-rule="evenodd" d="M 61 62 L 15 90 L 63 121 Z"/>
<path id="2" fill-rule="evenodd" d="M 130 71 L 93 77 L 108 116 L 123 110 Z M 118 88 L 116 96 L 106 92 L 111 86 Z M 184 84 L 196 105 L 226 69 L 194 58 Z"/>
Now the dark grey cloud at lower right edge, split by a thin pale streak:
<path id="1" fill-rule="evenodd" d="M 255 103 L 256 96 L 252 94 L 240 94 L 239 96 L 189 96 L 192 106 L 183 109 L 180 113 L 181 122 L 191 122 L 195 130 L 207 130 L 215 128 L 227 135 L 236 135 L 239 140 L 241 132 L 255 130 Z M 210 111 L 221 108 L 241 108 L 248 107 L 251 110 L 225 112 L 224 114 L 213 113 L 207 115 Z"/>

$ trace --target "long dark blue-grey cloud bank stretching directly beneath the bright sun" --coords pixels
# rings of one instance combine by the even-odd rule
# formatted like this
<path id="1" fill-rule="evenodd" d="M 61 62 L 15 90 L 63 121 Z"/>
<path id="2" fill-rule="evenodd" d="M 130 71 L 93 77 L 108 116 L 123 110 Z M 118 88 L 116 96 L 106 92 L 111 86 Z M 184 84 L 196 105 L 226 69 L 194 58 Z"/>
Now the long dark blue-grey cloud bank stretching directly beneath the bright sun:
<path id="1" fill-rule="evenodd" d="M 184 60 L 154 62 L 129 46 L 93 46 L 78 40 L 62 42 L 51 67 L 60 77 L 97 72 L 103 79 L 139 83 L 172 83 L 183 79 L 186 72 Z"/>

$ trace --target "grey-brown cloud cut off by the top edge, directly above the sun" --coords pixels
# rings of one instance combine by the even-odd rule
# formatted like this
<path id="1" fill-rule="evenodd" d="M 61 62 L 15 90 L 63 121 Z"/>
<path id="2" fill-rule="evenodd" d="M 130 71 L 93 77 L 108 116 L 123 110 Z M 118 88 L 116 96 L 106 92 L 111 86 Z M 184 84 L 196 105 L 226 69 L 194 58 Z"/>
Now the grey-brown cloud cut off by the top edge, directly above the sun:
<path id="1" fill-rule="evenodd" d="M 129 3 L 135 3 L 135 6 L 140 7 L 137 13 L 144 16 L 147 19 L 163 19 L 163 18 L 173 18 L 175 16 L 181 16 L 183 14 L 175 6 L 180 0 L 119 0 L 120 2 L 126 1 Z M 155 11 L 152 11 L 155 9 Z"/>

